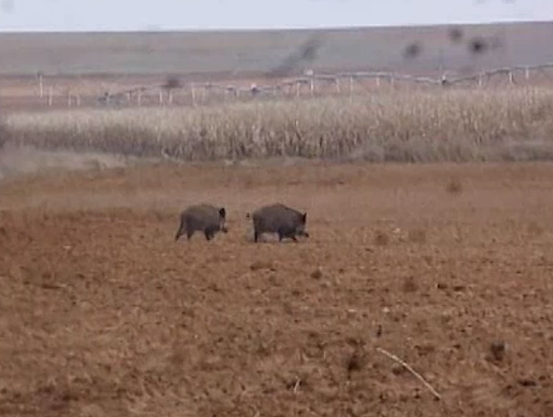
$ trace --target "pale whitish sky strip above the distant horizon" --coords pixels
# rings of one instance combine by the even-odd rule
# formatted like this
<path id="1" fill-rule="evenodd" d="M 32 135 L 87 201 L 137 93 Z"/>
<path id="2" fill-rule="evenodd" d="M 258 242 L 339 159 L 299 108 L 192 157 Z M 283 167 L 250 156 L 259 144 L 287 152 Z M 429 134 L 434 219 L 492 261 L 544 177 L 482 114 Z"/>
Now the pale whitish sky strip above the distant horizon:
<path id="1" fill-rule="evenodd" d="M 321 28 L 553 20 L 553 0 L 0 0 L 0 31 Z"/>

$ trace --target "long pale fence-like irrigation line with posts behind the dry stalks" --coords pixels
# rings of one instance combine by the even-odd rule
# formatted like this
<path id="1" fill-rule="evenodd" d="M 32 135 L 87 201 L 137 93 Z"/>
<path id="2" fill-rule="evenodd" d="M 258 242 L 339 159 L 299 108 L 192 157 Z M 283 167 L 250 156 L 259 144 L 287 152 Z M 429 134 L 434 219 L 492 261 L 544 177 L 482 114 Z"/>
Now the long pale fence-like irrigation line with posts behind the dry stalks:
<path id="1" fill-rule="evenodd" d="M 227 100 L 252 98 L 297 98 L 300 96 L 350 95 L 367 93 L 375 89 L 400 89 L 404 86 L 419 88 L 464 88 L 505 85 L 553 84 L 553 63 L 518 65 L 479 71 L 471 75 L 440 77 L 405 75 L 393 72 L 343 72 L 316 74 L 305 71 L 301 77 L 281 79 L 274 84 L 234 85 L 216 82 L 186 82 L 167 80 L 118 91 L 104 91 L 100 95 L 73 93 L 71 89 L 48 86 L 43 75 L 38 75 L 39 104 L 41 106 L 155 106 L 208 104 Z M 75 89 L 77 90 L 77 89 Z"/>

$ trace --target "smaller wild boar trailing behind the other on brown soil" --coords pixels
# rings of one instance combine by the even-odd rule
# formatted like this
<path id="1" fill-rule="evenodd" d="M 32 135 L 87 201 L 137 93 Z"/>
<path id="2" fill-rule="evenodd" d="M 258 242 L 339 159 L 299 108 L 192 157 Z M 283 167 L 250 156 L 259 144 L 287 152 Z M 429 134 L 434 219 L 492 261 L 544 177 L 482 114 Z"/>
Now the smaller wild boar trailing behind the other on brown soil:
<path id="1" fill-rule="evenodd" d="M 225 207 L 215 207 L 210 204 L 191 205 L 180 214 L 180 226 L 175 241 L 178 241 L 183 234 L 186 234 L 187 239 L 190 240 L 194 232 L 198 231 L 203 232 L 208 241 L 219 231 L 227 233 L 226 216 Z"/>

